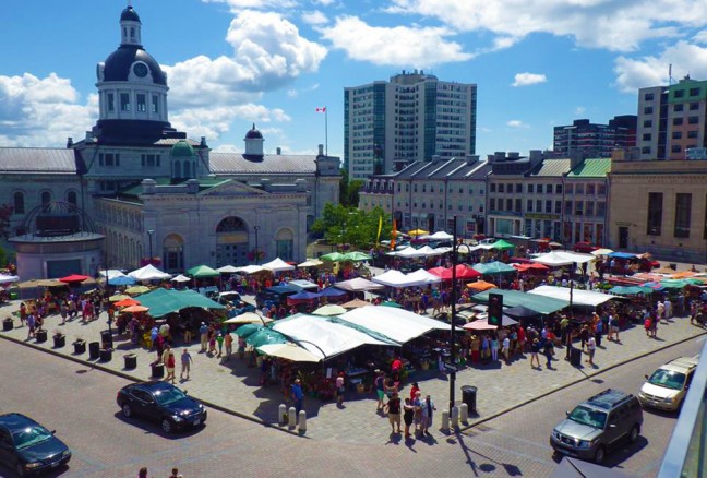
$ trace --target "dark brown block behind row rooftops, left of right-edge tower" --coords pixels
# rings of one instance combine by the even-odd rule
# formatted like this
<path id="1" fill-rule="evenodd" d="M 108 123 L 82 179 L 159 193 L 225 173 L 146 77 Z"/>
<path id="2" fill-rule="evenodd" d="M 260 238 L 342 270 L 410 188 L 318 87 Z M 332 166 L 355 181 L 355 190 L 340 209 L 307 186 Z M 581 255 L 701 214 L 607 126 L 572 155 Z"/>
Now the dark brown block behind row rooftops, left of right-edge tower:
<path id="1" fill-rule="evenodd" d="M 609 124 L 578 119 L 572 124 L 554 127 L 553 151 L 558 157 L 567 157 L 572 152 L 586 153 L 592 157 L 610 157 L 615 147 L 626 148 L 635 145 L 634 115 L 616 116 Z"/>

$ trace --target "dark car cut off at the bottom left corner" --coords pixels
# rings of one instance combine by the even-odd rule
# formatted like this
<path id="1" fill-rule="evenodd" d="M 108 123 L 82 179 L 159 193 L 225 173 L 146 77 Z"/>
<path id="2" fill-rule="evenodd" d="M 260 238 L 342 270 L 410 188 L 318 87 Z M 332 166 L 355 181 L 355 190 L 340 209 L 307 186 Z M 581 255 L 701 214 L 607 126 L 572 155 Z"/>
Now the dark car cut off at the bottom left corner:
<path id="1" fill-rule="evenodd" d="M 55 433 L 22 414 L 0 415 L 0 462 L 20 476 L 65 465 L 71 451 Z"/>

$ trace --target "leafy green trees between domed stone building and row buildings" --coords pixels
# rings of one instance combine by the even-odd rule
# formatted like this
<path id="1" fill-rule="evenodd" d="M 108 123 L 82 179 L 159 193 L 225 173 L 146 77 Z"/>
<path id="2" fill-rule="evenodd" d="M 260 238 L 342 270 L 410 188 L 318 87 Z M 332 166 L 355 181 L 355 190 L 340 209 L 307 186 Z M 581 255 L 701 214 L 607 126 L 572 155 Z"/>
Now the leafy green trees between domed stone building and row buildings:
<path id="1" fill-rule="evenodd" d="M 383 217 L 381 240 L 391 236 L 392 220 L 390 214 L 381 207 L 370 212 L 343 204 L 326 204 L 322 217 L 314 222 L 312 230 L 324 235 L 333 244 L 350 244 L 356 249 L 368 249 L 375 244 L 379 222 Z"/>

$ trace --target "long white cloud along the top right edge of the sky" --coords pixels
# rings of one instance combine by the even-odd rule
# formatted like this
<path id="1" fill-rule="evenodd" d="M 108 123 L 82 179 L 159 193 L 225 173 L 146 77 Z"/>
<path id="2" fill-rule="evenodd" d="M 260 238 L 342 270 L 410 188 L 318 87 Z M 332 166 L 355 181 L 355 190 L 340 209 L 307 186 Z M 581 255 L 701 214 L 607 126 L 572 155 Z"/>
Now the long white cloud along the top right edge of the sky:
<path id="1" fill-rule="evenodd" d="M 388 12 L 434 17 L 462 32 L 504 38 L 570 36 L 579 46 L 633 51 L 651 38 L 707 24 L 704 0 L 392 0 Z"/>

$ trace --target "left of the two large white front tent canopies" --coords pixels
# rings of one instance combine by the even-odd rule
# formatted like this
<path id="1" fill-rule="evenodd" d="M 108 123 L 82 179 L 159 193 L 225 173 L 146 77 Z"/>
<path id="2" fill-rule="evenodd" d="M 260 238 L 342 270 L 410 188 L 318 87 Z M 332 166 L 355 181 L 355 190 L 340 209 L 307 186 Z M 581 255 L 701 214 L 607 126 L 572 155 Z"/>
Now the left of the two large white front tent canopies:
<path id="1" fill-rule="evenodd" d="M 335 322 L 331 318 L 301 313 L 275 322 L 273 330 L 290 337 L 322 359 L 344 354 L 362 345 L 398 345 L 393 340 L 374 338 L 366 332 Z"/>

